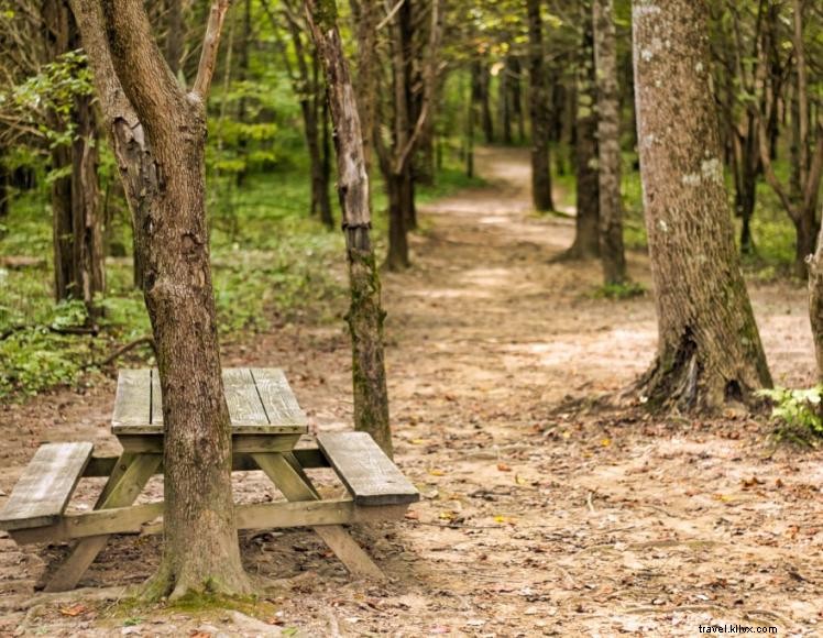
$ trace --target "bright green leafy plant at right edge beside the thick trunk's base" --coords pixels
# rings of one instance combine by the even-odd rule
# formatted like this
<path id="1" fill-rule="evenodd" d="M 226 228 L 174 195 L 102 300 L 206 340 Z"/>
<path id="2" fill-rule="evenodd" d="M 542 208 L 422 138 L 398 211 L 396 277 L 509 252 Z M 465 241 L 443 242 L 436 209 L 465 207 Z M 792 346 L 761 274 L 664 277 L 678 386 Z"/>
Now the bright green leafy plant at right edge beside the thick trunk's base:
<path id="1" fill-rule="evenodd" d="M 759 396 L 771 399 L 771 419 L 776 422 L 775 438 L 816 447 L 823 439 L 821 397 L 823 385 L 809 389 L 776 387 L 761 389 Z"/>

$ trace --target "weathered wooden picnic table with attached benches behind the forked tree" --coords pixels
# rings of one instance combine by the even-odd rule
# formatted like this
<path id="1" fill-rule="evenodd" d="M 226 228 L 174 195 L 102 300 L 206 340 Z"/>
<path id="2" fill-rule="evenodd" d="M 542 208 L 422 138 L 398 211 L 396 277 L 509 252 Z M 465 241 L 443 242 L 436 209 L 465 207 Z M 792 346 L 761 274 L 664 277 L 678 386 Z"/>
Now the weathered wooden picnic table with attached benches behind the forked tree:
<path id="1" fill-rule="evenodd" d="M 355 575 L 380 579 L 380 568 L 343 525 L 398 519 L 419 493 L 364 432 L 326 432 L 296 449 L 307 435 L 283 371 L 226 369 L 232 425 L 232 469 L 262 470 L 286 501 L 239 504 L 238 529 L 311 527 Z M 89 442 L 42 444 L 0 512 L 0 529 L 19 543 L 72 541 L 70 556 L 46 591 L 74 588 L 113 534 L 162 531 L 163 502 L 134 505 L 149 480 L 163 472 L 163 410 L 156 370 L 122 370 L 111 431 L 123 448 L 99 457 Z M 331 468 L 344 498 L 322 498 L 306 470 Z M 107 482 L 92 510 L 66 513 L 83 477 Z"/>

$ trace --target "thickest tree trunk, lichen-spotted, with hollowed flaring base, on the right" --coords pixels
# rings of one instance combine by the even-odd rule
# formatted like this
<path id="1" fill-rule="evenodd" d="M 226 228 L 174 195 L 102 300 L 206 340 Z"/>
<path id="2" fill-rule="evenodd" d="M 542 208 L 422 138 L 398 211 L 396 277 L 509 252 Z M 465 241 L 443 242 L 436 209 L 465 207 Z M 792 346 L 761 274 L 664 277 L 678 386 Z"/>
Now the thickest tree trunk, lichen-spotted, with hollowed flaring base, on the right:
<path id="1" fill-rule="evenodd" d="M 727 209 L 706 21 L 703 2 L 634 3 L 640 169 L 659 332 L 657 359 L 639 387 L 656 408 L 749 404 L 756 389 L 771 385 Z"/>

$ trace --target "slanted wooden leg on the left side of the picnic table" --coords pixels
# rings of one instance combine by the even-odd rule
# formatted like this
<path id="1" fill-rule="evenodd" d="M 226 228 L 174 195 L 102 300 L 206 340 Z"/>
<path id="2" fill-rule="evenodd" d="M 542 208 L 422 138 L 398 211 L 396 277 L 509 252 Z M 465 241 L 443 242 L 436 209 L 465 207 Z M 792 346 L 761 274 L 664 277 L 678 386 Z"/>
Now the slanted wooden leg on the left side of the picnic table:
<path id="1" fill-rule="evenodd" d="M 162 454 L 123 453 L 100 495 L 102 503 L 98 502 L 96 509 L 127 507 L 134 503 L 162 460 Z M 77 586 L 83 574 L 86 573 L 102 548 L 106 547 L 109 536 L 108 534 L 90 536 L 78 541 L 72 550 L 72 554 L 48 581 L 45 591 L 65 592 Z"/>

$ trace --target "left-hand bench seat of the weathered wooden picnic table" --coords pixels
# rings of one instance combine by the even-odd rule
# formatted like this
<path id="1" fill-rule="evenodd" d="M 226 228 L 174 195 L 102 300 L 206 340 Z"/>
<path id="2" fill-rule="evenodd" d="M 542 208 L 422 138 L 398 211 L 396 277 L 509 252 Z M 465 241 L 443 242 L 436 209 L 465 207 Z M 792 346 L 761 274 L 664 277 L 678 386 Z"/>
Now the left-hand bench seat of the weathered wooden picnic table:
<path id="1" fill-rule="evenodd" d="M 54 524 L 91 458 L 92 443 L 46 443 L 34 454 L 0 513 L 0 529 Z"/>

